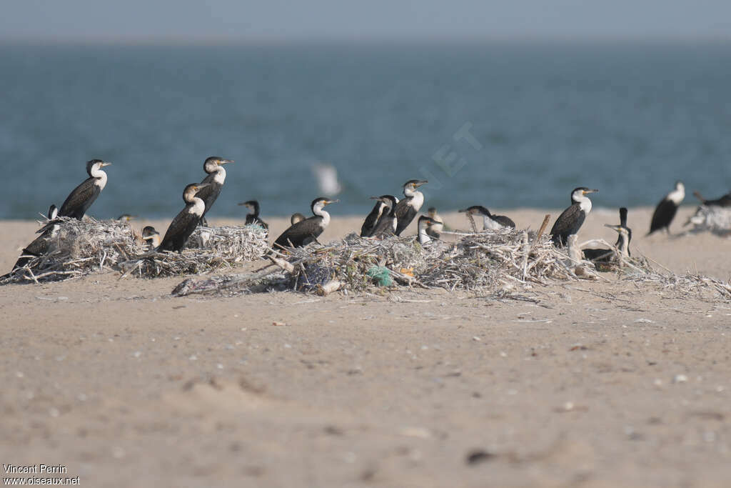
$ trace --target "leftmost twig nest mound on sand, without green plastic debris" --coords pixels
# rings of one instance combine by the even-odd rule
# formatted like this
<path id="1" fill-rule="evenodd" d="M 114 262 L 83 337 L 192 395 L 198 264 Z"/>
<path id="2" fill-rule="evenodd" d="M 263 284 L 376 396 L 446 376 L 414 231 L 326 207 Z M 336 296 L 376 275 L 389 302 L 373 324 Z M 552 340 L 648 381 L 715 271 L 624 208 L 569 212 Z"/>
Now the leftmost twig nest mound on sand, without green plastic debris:
<path id="1" fill-rule="evenodd" d="M 135 277 L 201 274 L 257 260 L 268 249 L 267 231 L 255 225 L 197 228 L 178 254 L 145 252 L 142 236 L 127 222 L 68 217 L 56 222 L 58 232 L 50 238 L 48 251 L 0 284 L 58 281 L 110 270 Z"/>

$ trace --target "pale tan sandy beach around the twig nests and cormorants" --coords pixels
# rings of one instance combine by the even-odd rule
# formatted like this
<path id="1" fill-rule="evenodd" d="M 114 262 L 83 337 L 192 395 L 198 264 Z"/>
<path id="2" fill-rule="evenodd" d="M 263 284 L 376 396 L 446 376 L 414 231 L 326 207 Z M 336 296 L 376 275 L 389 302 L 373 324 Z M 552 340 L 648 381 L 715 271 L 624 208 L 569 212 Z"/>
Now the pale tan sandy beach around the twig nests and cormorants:
<path id="1" fill-rule="evenodd" d="M 323 241 L 360 228 L 330 208 Z M 681 209 L 675 233 L 692 211 Z M 545 211 L 500 213 L 535 229 Z M 633 252 L 731 277 L 731 239 L 644 237 L 650 215 L 629 212 Z M 467 228 L 460 214 L 443 217 Z M 603 225 L 617 220 L 595 209 L 579 241 L 614 241 Z M 273 234 L 287 224 L 268 221 Z M 167 224 L 134 222 L 148 223 Z M 37 224 L 0 225 L 9 270 Z M 731 479 L 729 301 L 611 276 L 535 287 L 534 301 L 406 289 L 172 298 L 181 279 L 106 273 L 0 288 L 0 459 L 67 470 L 16 476 L 86 487 Z"/>

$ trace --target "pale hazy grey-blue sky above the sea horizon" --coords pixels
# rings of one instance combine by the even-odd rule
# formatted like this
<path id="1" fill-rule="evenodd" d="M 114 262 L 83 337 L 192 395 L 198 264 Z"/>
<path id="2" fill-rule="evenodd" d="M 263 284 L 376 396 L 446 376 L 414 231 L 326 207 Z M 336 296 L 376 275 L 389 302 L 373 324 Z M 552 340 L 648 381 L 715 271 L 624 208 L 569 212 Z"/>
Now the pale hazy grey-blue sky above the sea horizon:
<path id="1" fill-rule="evenodd" d="M 731 0 L 4 0 L 29 41 L 731 40 Z"/>

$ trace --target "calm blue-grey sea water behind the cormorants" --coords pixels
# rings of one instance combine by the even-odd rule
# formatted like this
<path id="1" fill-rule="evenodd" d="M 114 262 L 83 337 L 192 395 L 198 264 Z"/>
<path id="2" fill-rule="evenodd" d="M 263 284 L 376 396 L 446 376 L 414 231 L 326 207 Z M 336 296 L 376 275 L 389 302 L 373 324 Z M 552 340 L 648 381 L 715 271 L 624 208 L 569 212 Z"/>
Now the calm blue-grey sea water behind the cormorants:
<path id="1" fill-rule="evenodd" d="M 173 217 L 210 155 L 235 159 L 211 217 L 307 213 L 318 162 L 333 214 L 407 179 L 444 210 L 731 189 L 731 45 L 0 45 L 0 93 L 0 218 L 60 205 L 92 158 L 98 218 Z"/>

